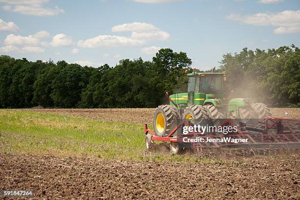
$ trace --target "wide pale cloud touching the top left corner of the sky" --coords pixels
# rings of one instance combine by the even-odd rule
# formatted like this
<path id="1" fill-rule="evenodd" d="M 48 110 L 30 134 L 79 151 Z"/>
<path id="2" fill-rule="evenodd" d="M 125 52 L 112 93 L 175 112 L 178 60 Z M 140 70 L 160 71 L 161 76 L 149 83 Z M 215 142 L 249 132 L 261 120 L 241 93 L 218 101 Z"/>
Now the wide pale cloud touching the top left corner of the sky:
<path id="1" fill-rule="evenodd" d="M 57 6 L 54 8 L 43 7 L 43 3 L 47 3 L 48 1 L 49 0 L 0 0 L 0 2 L 12 4 L 2 6 L 3 10 L 24 15 L 51 16 L 65 12 Z"/>

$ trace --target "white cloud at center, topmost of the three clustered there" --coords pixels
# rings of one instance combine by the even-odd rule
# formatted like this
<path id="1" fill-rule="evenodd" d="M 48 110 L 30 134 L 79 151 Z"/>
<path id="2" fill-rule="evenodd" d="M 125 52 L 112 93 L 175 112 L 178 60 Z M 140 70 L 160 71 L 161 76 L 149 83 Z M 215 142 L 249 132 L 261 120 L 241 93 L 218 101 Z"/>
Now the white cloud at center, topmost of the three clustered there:
<path id="1" fill-rule="evenodd" d="M 134 22 L 130 24 L 123 24 L 123 25 L 115 25 L 111 28 L 112 32 L 122 32 L 122 31 L 136 31 L 136 32 L 146 32 L 146 31 L 153 31 L 158 30 L 157 27 L 148 23 L 140 23 Z"/>

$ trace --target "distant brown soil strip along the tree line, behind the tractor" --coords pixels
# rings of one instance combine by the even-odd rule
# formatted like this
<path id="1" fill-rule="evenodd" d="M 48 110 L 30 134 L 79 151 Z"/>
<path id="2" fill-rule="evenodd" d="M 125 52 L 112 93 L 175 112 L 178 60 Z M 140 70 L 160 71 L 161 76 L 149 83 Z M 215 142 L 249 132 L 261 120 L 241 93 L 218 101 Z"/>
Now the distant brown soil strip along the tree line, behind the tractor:
<path id="1" fill-rule="evenodd" d="M 97 119 L 108 122 L 125 122 L 152 125 L 155 108 L 113 109 L 25 109 L 37 112 L 53 112 L 72 117 Z M 272 116 L 300 119 L 300 108 L 271 108 Z M 286 114 L 287 113 L 287 114 Z"/>

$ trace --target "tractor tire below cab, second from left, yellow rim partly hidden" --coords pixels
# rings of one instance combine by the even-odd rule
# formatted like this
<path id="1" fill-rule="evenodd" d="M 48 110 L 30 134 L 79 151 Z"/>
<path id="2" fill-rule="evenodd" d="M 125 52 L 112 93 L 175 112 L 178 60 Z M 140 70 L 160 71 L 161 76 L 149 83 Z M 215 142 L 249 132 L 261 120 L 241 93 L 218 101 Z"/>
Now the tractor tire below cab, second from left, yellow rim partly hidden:
<path id="1" fill-rule="evenodd" d="M 190 105 L 183 112 L 183 119 L 192 121 L 194 125 L 207 125 L 209 114 L 202 105 Z M 211 123 L 211 122 L 210 122 Z"/>

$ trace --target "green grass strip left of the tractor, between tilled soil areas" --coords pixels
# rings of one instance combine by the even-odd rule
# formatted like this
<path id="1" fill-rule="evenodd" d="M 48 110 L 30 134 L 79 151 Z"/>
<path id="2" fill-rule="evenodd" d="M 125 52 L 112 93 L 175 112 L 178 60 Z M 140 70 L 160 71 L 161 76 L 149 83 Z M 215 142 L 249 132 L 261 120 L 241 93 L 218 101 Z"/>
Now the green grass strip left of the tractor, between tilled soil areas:
<path id="1" fill-rule="evenodd" d="M 143 125 L 5 109 L 0 109 L 0 152 L 118 160 L 220 162 L 159 152 L 147 152 L 145 156 Z"/>

